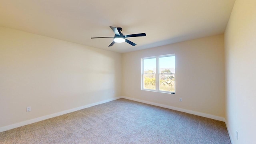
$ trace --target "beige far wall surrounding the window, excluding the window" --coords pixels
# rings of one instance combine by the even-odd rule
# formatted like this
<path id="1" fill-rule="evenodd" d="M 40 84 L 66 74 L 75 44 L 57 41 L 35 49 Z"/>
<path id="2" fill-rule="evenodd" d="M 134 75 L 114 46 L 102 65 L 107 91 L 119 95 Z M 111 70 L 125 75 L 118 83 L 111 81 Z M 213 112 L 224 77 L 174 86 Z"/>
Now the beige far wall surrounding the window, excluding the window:
<path id="1" fill-rule="evenodd" d="M 141 90 L 141 58 L 165 54 L 176 56 L 176 94 Z M 122 54 L 122 75 L 122 96 L 225 116 L 223 35 Z"/>

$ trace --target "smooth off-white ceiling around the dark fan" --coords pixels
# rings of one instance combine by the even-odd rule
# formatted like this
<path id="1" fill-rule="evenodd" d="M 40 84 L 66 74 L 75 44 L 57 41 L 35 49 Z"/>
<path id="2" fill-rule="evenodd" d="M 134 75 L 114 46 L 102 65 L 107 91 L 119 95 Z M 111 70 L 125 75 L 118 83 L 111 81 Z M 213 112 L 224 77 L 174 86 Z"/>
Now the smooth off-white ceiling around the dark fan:
<path id="1" fill-rule="evenodd" d="M 0 0 L 0 26 L 114 52 L 224 33 L 235 0 Z M 146 33 L 115 43 L 109 26 Z"/>

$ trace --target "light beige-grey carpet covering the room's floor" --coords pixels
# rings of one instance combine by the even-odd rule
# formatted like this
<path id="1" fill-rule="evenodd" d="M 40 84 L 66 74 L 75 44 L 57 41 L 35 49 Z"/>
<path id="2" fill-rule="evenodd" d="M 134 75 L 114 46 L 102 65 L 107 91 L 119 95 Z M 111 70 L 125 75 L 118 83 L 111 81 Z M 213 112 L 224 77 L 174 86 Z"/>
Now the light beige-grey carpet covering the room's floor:
<path id="1" fill-rule="evenodd" d="M 231 144 L 224 122 L 118 99 L 0 133 L 0 144 Z"/>

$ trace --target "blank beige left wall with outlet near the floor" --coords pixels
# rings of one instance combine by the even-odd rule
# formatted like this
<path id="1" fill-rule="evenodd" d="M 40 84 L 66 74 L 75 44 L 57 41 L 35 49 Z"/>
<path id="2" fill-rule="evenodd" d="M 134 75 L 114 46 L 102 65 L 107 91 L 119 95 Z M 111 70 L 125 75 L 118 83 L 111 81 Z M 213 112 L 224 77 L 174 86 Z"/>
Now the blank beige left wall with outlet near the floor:
<path id="1" fill-rule="evenodd" d="M 121 59 L 0 27 L 0 127 L 120 96 Z"/>

